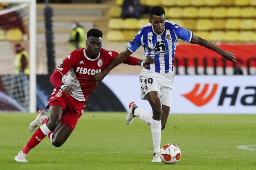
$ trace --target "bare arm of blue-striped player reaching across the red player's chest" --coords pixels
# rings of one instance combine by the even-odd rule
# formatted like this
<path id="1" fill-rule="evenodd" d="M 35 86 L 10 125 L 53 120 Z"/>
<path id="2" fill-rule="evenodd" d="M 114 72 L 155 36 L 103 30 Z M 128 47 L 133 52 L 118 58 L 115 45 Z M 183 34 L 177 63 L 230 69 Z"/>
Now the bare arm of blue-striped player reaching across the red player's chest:
<path id="1" fill-rule="evenodd" d="M 93 76 L 93 81 L 102 81 L 104 79 L 104 77 L 108 74 L 109 71 L 111 71 L 114 67 L 116 67 L 117 65 L 121 64 L 125 59 L 127 59 L 127 57 L 129 57 L 132 53 L 130 51 L 128 51 L 127 49 L 125 49 L 123 52 L 121 52 L 116 59 L 111 62 L 111 64 L 108 65 L 108 67 L 106 67 L 104 69 L 104 71 L 102 71 L 101 73 L 95 74 Z"/>

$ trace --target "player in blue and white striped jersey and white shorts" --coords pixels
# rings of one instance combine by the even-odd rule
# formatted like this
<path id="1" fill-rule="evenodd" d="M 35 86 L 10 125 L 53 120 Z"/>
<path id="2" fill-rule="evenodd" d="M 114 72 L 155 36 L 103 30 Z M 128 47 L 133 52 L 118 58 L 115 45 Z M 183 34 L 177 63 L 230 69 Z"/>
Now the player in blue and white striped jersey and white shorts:
<path id="1" fill-rule="evenodd" d="M 144 55 L 153 64 L 145 67 L 140 73 L 141 98 L 148 100 L 153 115 L 141 110 L 134 102 L 129 104 L 129 113 L 126 117 L 127 125 L 131 125 L 135 116 L 150 124 L 154 145 L 154 156 L 151 162 L 161 162 L 160 142 L 161 130 L 164 129 L 171 106 L 171 93 L 173 90 L 173 64 L 178 39 L 192 44 L 202 45 L 220 54 L 227 60 L 236 62 L 234 54 L 224 51 L 216 45 L 200 38 L 190 30 L 178 26 L 172 21 L 165 20 L 165 11 L 161 6 L 154 6 L 150 10 L 149 24 L 141 28 L 140 32 L 126 45 L 124 52 L 112 62 L 103 72 L 94 76 L 95 81 L 101 81 L 106 74 L 119 65 L 125 58 L 135 52 L 140 46 L 144 48 Z"/>

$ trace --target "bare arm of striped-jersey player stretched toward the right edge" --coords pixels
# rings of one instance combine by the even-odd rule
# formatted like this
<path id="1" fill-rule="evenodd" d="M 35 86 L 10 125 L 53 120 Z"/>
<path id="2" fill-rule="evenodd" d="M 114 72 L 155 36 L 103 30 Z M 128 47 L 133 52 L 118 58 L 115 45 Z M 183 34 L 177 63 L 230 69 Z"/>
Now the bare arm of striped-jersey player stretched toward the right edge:
<path id="1" fill-rule="evenodd" d="M 209 42 L 207 40 L 204 40 L 201 37 L 198 37 L 196 35 L 192 35 L 192 39 L 191 39 L 190 43 L 202 45 L 202 46 L 204 46 L 204 47 L 206 47 L 206 48 L 208 48 L 210 50 L 213 50 L 213 51 L 217 52 L 218 54 L 220 54 L 225 59 L 233 61 L 233 62 L 236 62 L 236 60 L 234 59 L 235 58 L 234 54 L 232 52 L 224 51 L 221 48 L 219 48 L 216 45 L 214 45 L 213 43 L 211 43 L 211 42 Z"/>

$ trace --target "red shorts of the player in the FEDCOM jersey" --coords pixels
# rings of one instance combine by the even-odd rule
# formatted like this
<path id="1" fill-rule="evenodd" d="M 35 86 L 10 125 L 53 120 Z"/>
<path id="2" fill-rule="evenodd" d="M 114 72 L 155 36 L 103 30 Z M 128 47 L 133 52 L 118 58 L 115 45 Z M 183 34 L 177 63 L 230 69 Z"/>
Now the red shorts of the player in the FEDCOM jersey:
<path id="1" fill-rule="evenodd" d="M 72 96 L 66 96 L 61 89 L 54 88 L 46 108 L 49 109 L 50 106 L 53 105 L 62 107 L 62 117 L 60 122 L 74 130 L 78 119 L 83 114 L 85 104 L 86 101 L 78 101 Z"/>

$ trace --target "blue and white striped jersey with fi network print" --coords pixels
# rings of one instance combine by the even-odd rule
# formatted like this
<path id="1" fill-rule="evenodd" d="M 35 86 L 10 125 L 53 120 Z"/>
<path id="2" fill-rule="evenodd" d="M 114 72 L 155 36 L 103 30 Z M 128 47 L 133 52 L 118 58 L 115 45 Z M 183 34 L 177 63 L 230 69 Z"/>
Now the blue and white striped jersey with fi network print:
<path id="1" fill-rule="evenodd" d="M 153 57 L 154 64 L 150 64 L 151 71 L 168 73 L 173 71 L 174 53 L 178 39 L 190 42 L 192 32 L 178 26 L 172 21 L 165 21 L 165 30 L 162 34 L 156 34 L 152 24 L 141 28 L 140 32 L 126 45 L 130 52 L 135 52 L 141 45 L 144 47 L 144 55 Z"/>

